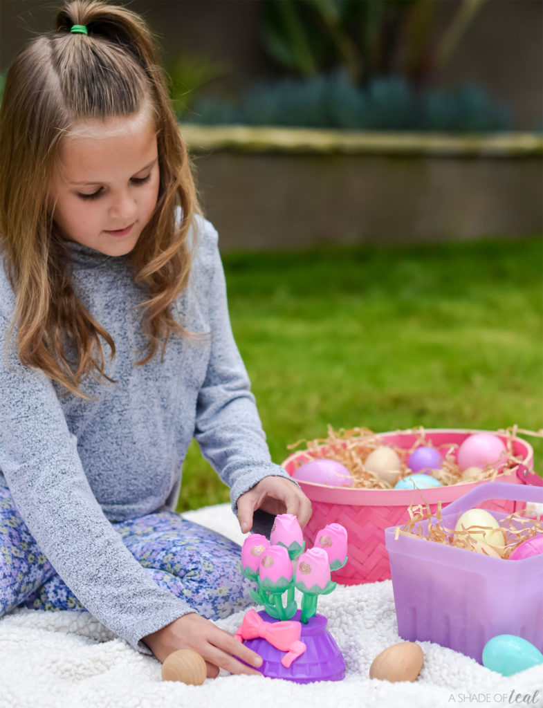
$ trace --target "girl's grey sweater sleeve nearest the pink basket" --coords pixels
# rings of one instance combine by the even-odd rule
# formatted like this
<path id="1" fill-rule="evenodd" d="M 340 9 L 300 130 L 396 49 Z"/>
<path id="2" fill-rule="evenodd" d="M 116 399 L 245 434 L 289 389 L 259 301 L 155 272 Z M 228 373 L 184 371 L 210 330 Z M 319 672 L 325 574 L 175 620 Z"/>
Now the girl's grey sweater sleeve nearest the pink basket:
<path id="1" fill-rule="evenodd" d="M 297 484 L 271 462 L 265 433 L 251 393 L 244 362 L 230 325 L 218 234 L 205 222 L 203 244 L 209 271 L 208 304 L 211 352 L 196 409 L 195 439 L 202 455 L 230 487 L 232 509 L 238 498 L 265 476 L 282 476 Z"/>

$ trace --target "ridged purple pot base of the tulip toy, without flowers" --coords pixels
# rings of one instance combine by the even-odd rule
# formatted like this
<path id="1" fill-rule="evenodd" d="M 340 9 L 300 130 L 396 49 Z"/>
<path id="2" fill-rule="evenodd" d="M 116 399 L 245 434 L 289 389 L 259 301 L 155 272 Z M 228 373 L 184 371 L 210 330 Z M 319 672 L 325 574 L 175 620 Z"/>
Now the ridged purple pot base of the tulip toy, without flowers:
<path id="1" fill-rule="evenodd" d="M 292 621 L 299 622 L 301 614 L 301 610 L 297 610 Z M 270 617 L 264 610 L 258 612 L 258 615 L 265 622 L 279 621 Z M 307 649 L 302 656 L 292 662 L 289 668 L 285 668 L 281 663 L 285 652 L 275 649 L 275 646 L 265 639 L 261 637 L 246 639 L 244 644 L 263 658 L 262 666 L 258 670 L 268 678 L 284 678 L 296 683 L 341 681 L 345 677 L 345 661 L 333 636 L 326 629 L 327 622 L 323 615 L 315 615 L 307 624 L 302 623 L 300 641 L 304 642 Z"/>

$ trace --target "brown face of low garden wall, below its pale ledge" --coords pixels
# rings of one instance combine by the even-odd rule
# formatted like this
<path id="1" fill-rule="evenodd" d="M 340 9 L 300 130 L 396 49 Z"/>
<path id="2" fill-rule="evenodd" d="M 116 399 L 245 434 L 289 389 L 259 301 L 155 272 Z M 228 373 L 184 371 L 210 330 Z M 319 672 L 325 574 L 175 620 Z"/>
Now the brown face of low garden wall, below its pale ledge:
<path id="1" fill-rule="evenodd" d="M 539 159 L 215 152 L 197 156 L 196 166 L 224 251 L 543 230 Z"/>

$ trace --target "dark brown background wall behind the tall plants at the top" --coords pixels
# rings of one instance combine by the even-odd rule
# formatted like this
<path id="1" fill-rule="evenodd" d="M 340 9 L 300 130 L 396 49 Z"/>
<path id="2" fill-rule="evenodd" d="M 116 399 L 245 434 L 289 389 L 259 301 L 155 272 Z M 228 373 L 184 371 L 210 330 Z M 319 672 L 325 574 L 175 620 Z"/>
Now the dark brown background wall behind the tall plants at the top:
<path id="1" fill-rule="evenodd" d="M 442 2 L 442 23 L 457 1 Z M 59 4 L 0 0 L 0 71 L 33 33 L 51 28 Z M 278 72 L 258 41 L 260 0 L 134 0 L 130 7 L 143 13 L 161 35 L 166 59 L 181 51 L 226 59 L 232 72 L 210 86 L 214 91 L 236 92 L 260 76 Z M 543 126 L 542 57 L 543 2 L 488 0 L 451 61 L 436 74 L 435 84 L 481 84 L 513 108 L 519 129 L 533 130 Z"/>

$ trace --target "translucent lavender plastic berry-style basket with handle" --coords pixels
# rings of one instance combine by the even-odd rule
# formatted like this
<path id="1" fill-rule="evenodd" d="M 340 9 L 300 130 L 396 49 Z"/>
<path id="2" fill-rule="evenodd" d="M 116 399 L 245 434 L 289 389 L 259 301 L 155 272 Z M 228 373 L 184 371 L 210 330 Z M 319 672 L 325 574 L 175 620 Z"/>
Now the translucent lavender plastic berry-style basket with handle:
<path id="1" fill-rule="evenodd" d="M 489 482 L 442 510 L 454 528 L 458 515 L 488 499 L 543 502 L 543 488 Z M 489 510 L 501 521 L 508 514 Z M 416 525 L 424 530 L 428 520 Z M 385 531 L 398 632 L 407 641 L 434 641 L 482 663 L 486 642 L 515 634 L 543 651 L 543 554 L 520 561 L 470 553 Z"/>

